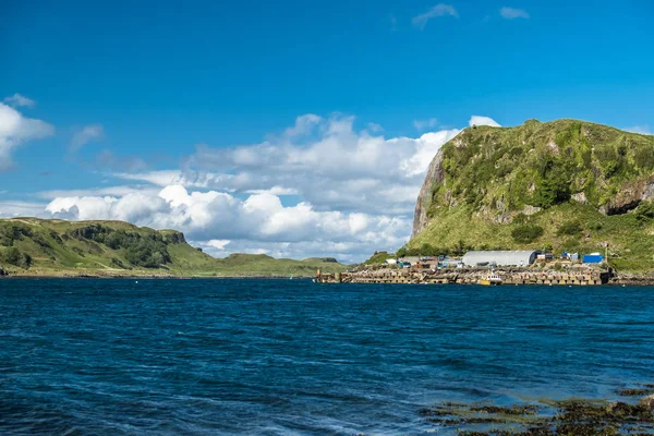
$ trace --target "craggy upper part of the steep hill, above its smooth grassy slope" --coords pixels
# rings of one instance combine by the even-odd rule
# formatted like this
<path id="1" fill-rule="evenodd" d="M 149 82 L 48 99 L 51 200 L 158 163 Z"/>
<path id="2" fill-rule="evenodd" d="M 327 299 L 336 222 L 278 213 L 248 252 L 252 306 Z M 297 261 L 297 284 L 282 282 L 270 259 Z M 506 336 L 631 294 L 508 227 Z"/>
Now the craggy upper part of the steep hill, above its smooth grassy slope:
<path id="1" fill-rule="evenodd" d="M 576 202 L 605 215 L 654 199 L 654 136 L 574 120 L 465 129 L 432 160 L 412 238 L 437 214 L 467 207 L 496 223 Z"/>

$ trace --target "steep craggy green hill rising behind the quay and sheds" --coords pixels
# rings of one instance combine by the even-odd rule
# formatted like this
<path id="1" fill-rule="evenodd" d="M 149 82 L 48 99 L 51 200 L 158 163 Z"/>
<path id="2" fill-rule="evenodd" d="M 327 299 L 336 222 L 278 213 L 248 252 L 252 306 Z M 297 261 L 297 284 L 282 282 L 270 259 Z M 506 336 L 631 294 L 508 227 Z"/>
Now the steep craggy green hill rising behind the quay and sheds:
<path id="1" fill-rule="evenodd" d="M 654 136 L 576 120 L 465 129 L 432 161 L 399 254 L 602 252 L 654 270 Z"/>

